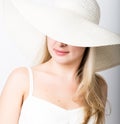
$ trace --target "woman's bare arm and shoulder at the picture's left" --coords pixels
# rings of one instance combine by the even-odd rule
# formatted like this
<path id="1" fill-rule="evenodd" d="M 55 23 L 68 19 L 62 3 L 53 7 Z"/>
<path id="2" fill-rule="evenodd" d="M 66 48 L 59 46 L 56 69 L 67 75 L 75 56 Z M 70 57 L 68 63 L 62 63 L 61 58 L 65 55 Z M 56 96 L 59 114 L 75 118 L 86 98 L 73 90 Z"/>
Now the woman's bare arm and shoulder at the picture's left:
<path id="1" fill-rule="evenodd" d="M 0 124 L 17 124 L 28 82 L 25 68 L 15 69 L 0 95 Z"/>

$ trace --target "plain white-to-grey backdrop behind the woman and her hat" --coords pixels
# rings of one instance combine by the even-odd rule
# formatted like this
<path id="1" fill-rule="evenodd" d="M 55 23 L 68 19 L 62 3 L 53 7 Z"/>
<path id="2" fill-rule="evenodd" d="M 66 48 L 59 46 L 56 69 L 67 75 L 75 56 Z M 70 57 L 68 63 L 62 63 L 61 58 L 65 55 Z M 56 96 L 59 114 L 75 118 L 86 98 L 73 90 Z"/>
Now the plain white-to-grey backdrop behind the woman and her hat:
<path id="1" fill-rule="evenodd" d="M 40 0 L 34 1 L 39 2 Z M 50 0 L 44 0 L 44 2 L 50 2 Z M 0 0 L 0 4 L 1 3 L 2 0 Z M 98 3 L 101 7 L 100 25 L 113 32 L 120 33 L 120 0 L 98 0 Z M 18 66 L 29 66 L 29 60 L 7 37 L 4 26 L 5 25 L 0 14 L 0 92 L 2 91 L 7 76 L 14 68 Z M 106 114 L 106 124 L 119 124 L 120 66 L 100 72 L 100 74 L 107 81 L 108 100 L 112 109 L 109 116 Z M 109 106 L 107 105 L 106 110 L 108 107 Z"/>

